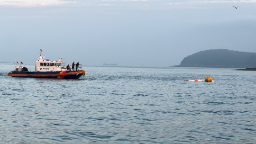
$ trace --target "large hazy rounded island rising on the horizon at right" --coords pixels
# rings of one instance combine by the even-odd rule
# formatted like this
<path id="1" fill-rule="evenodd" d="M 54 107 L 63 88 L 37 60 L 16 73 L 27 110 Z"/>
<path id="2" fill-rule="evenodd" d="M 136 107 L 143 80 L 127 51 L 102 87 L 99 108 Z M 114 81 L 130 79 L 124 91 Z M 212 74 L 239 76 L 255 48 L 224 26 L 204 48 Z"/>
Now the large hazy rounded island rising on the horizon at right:
<path id="1" fill-rule="evenodd" d="M 215 49 L 200 51 L 183 59 L 178 67 L 256 68 L 256 53 Z M 249 69 L 248 69 L 249 70 Z M 253 69 L 250 69 L 253 70 Z M 247 70 L 245 70 L 247 71 Z"/>

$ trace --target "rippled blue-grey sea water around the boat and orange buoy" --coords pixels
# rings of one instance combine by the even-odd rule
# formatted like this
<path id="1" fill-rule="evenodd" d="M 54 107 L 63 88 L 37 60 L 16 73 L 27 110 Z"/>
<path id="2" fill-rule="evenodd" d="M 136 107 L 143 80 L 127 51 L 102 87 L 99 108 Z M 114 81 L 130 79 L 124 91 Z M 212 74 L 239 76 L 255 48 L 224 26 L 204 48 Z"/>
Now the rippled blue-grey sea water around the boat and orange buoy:
<path id="1" fill-rule="evenodd" d="M 65 80 L 12 66 L 0 64 L 0 144 L 256 144 L 256 71 L 88 66 Z"/>

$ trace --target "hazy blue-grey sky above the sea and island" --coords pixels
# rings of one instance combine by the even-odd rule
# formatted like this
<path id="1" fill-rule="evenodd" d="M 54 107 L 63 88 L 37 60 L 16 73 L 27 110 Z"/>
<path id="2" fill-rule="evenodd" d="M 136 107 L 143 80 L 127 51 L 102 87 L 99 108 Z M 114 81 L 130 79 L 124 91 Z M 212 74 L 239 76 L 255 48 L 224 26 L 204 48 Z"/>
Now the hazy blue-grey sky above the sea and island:
<path id="1" fill-rule="evenodd" d="M 239 6 L 235 9 L 232 6 Z M 0 61 L 165 67 L 202 50 L 256 52 L 256 0 L 0 0 Z"/>

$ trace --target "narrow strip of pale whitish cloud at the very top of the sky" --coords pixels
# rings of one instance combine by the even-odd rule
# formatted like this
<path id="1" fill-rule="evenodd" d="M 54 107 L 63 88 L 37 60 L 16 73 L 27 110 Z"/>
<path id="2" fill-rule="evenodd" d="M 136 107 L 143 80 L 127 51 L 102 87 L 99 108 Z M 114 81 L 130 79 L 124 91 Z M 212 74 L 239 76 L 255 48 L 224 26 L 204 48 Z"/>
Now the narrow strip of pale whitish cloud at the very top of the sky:
<path id="1" fill-rule="evenodd" d="M 17 6 L 17 7 L 38 7 L 38 6 L 51 6 L 63 4 L 76 4 L 76 5 L 194 5 L 203 3 L 256 3 L 256 0 L 172 0 L 169 3 L 166 0 L 5 0 L 0 1 L 0 6 Z"/>

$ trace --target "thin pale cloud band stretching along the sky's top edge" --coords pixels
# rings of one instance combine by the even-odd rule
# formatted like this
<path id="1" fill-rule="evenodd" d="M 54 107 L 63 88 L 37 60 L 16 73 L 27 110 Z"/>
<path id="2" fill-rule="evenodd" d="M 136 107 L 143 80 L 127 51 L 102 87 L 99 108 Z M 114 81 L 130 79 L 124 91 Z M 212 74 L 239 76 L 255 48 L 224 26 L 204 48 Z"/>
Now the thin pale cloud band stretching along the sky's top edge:
<path id="1" fill-rule="evenodd" d="M 168 9 L 170 6 L 187 7 L 210 3 L 256 3 L 256 0 L 4 0 L 0 1 L 0 6 L 46 7 L 74 4 L 94 8 L 110 6 L 129 8 L 128 6 L 131 5 L 133 9 Z"/>

